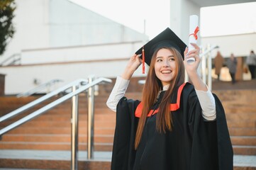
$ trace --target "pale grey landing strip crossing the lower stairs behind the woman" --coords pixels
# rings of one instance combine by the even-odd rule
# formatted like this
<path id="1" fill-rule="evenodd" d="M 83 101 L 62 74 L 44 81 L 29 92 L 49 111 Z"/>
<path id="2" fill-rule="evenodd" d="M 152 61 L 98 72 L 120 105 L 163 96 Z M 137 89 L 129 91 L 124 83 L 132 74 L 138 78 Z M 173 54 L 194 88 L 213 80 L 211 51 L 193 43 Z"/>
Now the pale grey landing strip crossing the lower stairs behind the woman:
<path id="1" fill-rule="evenodd" d="M 69 151 L 33 151 L 33 150 L 0 150 L 0 159 L 50 159 L 50 160 L 71 160 Z M 86 161 L 87 152 L 78 152 L 79 161 Z M 111 152 L 94 152 L 94 160 L 111 161 Z M 256 156 L 234 155 L 234 166 L 256 167 Z M 17 170 L 17 169 L 16 169 Z"/>

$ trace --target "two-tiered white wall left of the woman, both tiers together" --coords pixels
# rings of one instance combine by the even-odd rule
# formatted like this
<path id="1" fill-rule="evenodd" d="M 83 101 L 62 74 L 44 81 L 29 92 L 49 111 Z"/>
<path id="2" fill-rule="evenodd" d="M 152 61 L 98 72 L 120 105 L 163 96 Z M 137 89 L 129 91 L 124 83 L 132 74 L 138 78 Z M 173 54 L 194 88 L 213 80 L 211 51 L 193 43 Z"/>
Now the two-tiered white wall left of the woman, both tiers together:
<path id="1" fill-rule="evenodd" d="M 6 74 L 5 94 L 19 94 L 35 88 L 38 84 L 33 84 L 34 79 L 40 84 L 62 79 L 59 85 L 63 85 L 76 79 L 87 79 L 91 74 L 116 77 L 122 74 L 129 58 L 142 45 L 143 42 L 133 42 L 25 50 L 21 53 L 21 65 L 0 67 L 1 74 Z M 143 75 L 141 68 L 134 74 L 135 77 Z"/>

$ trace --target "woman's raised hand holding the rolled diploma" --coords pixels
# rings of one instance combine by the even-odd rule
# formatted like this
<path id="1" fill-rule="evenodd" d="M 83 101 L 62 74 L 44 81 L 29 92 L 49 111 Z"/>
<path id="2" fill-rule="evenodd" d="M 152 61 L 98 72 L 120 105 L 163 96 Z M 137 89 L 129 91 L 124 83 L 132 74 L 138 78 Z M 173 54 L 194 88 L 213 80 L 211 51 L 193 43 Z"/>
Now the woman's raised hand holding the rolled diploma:
<path id="1" fill-rule="evenodd" d="M 191 45 L 195 47 L 194 50 L 191 50 L 190 52 L 188 52 L 189 49 L 187 47 L 186 50 L 184 51 L 184 66 L 190 79 L 194 76 L 198 76 L 197 69 L 201 62 L 201 57 L 199 56 L 199 52 L 200 52 L 199 46 L 194 43 L 191 43 Z M 194 57 L 195 62 L 188 64 L 187 59 L 191 57 Z"/>

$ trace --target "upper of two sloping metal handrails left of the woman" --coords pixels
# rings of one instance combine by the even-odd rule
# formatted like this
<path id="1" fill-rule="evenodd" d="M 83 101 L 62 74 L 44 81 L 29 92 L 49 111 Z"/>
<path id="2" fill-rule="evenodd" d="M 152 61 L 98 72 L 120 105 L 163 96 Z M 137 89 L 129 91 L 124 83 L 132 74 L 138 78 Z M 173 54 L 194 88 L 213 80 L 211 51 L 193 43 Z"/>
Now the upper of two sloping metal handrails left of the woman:
<path id="1" fill-rule="evenodd" d="M 72 86 L 76 86 L 76 85 L 87 83 L 87 82 L 88 82 L 87 79 L 77 79 L 75 81 L 72 81 L 71 83 L 69 83 L 65 86 L 62 86 L 59 89 L 56 89 L 55 91 L 52 91 L 49 94 L 46 94 L 45 96 L 42 96 L 42 97 L 36 99 L 35 101 L 32 101 L 32 102 L 26 104 L 25 106 L 22 106 L 21 108 L 16 109 L 15 111 L 12 111 L 6 115 L 3 115 L 2 117 L 0 117 L 0 123 L 4 120 L 8 120 L 9 118 L 12 118 L 14 115 L 18 115 L 18 114 L 22 113 L 23 111 L 26 111 L 29 108 L 32 108 L 33 106 L 38 105 L 39 103 L 42 103 L 43 101 L 48 100 L 52 96 L 56 96 L 57 94 L 60 94 L 60 92 L 62 92 L 62 91 L 66 91 L 67 89 L 72 88 Z"/>

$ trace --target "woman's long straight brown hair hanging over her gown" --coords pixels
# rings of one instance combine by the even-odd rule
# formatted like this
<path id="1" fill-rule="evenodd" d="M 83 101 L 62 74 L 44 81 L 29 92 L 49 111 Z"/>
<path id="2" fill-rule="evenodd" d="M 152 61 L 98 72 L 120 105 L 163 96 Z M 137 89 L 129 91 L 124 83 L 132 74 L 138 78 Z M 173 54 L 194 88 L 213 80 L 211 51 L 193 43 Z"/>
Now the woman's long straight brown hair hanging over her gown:
<path id="1" fill-rule="evenodd" d="M 148 113 L 150 112 L 150 106 L 152 106 L 157 98 L 157 94 L 162 89 L 162 83 L 160 79 L 157 78 L 155 74 L 155 60 L 157 52 L 162 49 L 166 48 L 172 52 L 174 55 L 174 59 L 176 62 L 176 75 L 174 79 L 170 82 L 169 88 L 165 92 L 165 95 L 162 98 L 162 101 L 159 105 L 159 111 L 157 113 L 157 122 L 156 122 L 156 129 L 158 132 L 167 132 L 167 130 L 172 131 L 172 114 L 169 111 L 169 103 L 172 96 L 172 91 L 174 87 L 180 86 L 184 83 L 184 62 L 182 60 L 182 55 L 173 47 L 160 47 L 158 50 L 155 50 L 154 54 L 152 55 L 152 59 L 150 62 L 150 69 L 148 72 L 148 76 L 145 81 L 145 85 L 143 88 L 143 113 L 140 116 L 140 120 L 138 123 L 138 128 L 136 131 L 135 137 L 135 149 L 138 148 L 140 143 L 141 136 L 143 134 L 143 129 L 145 126 L 145 121 L 147 118 Z M 149 91 L 150 89 L 150 91 Z"/>

